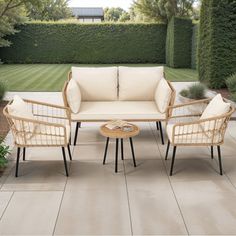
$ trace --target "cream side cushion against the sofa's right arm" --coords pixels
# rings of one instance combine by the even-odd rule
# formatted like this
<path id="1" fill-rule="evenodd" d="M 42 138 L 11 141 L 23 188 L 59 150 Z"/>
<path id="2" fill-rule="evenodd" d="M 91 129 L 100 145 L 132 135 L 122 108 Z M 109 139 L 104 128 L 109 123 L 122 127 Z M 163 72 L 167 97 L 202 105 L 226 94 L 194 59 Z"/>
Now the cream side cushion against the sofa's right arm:
<path id="1" fill-rule="evenodd" d="M 162 78 L 158 83 L 155 91 L 155 102 L 157 109 L 161 113 L 165 113 L 170 104 L 172 90 L 168 82 Z"/>

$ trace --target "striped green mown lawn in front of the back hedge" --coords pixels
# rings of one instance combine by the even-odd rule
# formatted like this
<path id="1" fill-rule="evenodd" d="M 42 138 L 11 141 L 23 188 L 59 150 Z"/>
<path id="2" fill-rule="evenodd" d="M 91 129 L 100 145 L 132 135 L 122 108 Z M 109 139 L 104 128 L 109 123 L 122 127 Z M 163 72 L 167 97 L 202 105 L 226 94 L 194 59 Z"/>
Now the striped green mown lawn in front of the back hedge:
<path id="1" fill-rule="evenodd" d="M 123 64 L 124 66 L 155 66 L 156 64 Z M 71 64 L 13 64 L 0 65 L 0 80 L 9 91 L 61 91 Z M 77 65 L 111 66 L 111 65 Z M 191 69 L 165 67 L 171 81 L 197 81 L 197 72 Z"/>

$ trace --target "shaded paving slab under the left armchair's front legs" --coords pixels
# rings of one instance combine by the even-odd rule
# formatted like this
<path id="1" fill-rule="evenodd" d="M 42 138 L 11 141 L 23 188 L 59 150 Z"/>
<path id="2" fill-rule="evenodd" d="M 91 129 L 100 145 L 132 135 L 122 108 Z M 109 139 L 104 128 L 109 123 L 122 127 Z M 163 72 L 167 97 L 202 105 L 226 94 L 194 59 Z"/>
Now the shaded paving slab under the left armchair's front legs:
<path id="1" fill-rule="evenodd" d="M 14 168 L 1 190 L 63 190 L 66 180 L 63 161 L 25 161 L 20 162 L 18 178 Z"/>

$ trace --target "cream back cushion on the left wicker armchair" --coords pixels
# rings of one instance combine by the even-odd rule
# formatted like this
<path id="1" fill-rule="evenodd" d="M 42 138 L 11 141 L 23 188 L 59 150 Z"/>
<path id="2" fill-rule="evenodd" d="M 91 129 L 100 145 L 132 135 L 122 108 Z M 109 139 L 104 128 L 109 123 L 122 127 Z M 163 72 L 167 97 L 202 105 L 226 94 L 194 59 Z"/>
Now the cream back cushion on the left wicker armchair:
<path id="1" fill-rule="evenodd" d="M 32 110 L 29 109 L 27 103 L 18 95 L 14 96 L 12 103 L 7 106 L 7 109 L 9 114 L 12 116 L 31 120 L 35 119 Z M 34 125 L 32 123 L 22 122 L 18 119 L 13 119 L 13 123 L 15 124 L 17 131 L 34 131 Z"/>

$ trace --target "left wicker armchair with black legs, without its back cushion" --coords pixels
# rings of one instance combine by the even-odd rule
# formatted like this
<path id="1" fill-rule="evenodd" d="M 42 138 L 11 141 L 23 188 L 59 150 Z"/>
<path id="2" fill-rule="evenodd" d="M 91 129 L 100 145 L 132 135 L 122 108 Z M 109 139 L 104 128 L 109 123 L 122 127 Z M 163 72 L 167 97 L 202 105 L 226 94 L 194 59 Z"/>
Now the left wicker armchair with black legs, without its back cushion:
<path id="1" fill-rule="evenodd" d="M 69 109 L 31 100 L 24 100 L 24 102 L 27 104 L 27 109 L 33 113 L 33 119 L 12 116 L 9 114 L 8 105 L 3 109 L 17 146 L 15 177 L 18 176 L 21 148 L 23 148 L 23 160 L 25 160 L 27 147 L 61 147 L 66 176 L 68 176 L 65 147 L 72 160 L 69 146 L 71 127 Z"/>

